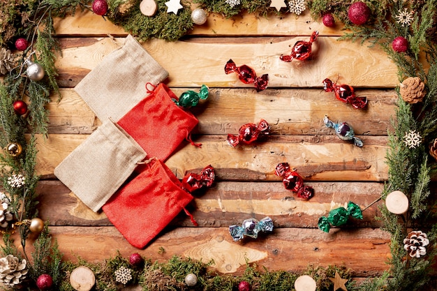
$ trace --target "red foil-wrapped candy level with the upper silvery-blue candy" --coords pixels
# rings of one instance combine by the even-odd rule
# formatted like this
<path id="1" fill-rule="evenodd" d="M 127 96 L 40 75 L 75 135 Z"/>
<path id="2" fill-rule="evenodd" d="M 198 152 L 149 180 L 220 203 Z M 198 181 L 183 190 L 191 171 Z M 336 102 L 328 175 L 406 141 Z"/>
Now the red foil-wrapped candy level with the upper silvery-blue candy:
<path id="1" fill-rule="evenodd" d="M 237 144 L 251 144 L 260 141 L 270 134 L 270 125 L 264 119 L 260 120 L 258 126 L 256 124 L 244 124 L 240 127 L 237 135 L 228 135 L 228 143 L 232 147 L 237 147 Z"/>

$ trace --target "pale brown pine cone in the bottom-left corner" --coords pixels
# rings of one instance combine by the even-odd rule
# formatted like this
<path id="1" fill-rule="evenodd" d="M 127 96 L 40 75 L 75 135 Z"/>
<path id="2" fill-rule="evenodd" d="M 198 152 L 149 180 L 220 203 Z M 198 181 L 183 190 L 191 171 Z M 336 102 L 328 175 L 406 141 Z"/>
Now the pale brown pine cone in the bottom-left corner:
<path id="1" fill-rule="evenodd" d="M 26 278 L 27 261 L 20 260 L 13 255 L 7 255 L 4 258 L 0 258 L 0 283 L 14 288 L 17 287 L 24 278 Z"/>

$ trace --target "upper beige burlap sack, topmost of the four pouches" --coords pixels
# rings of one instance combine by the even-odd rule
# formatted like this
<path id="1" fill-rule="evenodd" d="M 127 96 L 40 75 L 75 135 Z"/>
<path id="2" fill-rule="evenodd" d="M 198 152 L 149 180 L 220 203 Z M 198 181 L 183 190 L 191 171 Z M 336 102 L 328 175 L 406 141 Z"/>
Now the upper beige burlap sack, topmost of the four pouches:
<path id="1" fill-rule="evenodd" d="M 147 96 L 147 82 L 158 84 L 166 77 L 168 72 L 128 35 L 124 45 L 104 57 L 75 91 L 98 119 L 119 121 Z"/>

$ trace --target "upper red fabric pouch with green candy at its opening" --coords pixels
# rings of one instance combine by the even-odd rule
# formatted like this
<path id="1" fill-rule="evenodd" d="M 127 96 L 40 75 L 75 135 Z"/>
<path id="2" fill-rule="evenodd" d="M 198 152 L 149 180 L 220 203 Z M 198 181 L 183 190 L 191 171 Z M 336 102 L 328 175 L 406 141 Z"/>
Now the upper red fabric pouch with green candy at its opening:
<path id="1" fill-rule="evenodd" d="M 146 89 L 148 85 L 153 86 L 147 83 Z M 147 89 L 147 93 L 149 96 L 121 117 L 117 124 L 140 144 L 147 158 L 165 161 L 183 140 L 194 144 L 190 133 L 198 119 L 173 102 L 172 98 L 178 98 L 165 84 L 158 84 L 151 92 Z"/>

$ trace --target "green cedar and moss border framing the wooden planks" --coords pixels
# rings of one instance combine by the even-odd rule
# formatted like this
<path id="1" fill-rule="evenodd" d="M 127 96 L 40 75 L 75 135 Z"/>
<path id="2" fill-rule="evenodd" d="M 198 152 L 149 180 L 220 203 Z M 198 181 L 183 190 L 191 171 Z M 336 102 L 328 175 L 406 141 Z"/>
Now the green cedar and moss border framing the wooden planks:
<path id="1" fill-rule="evenodd" d="M 163 38 L 176 40 L 188 33 L 193 22 L 187 3 L 178 15 L 166 13 L 164 0 L 158 0 L 158 12 L 154 17 L 142 17 L 138 9 L 140 0 L 110 0 L 109 20 L 124 27 L 140 40 L 149 38 Z M 267 16 L 269 13 L 280 14 L 269 7 L 269 0 L 242 0 L 238 6 L 231 8 L 223 0 L 195 0 L 200 6 L 214 13 L 221 13 L 226 17 L 238 15 L 243 11 Z M 427 95 L 423 102 L 408 105 L 399 95 L 396 117 L 393 121 L 394 131 L 388 133 L 389 147 L 387 163 L 389 165 L 389 179 L 382 193 L 383 198 L 390 191 L 400 190 L 406 193 L 410 200 L 410 210 L 406 221 L 400 222 L 398 216 L 391 214 L 385 207 L 381 208 L 381 219 L 384 229 L 390 232 L 392 241 L 390 251 L 390 271 L 379 278 L 373 278 L 360 285 L 348 283 L 348 290 L 420 290 L 427 288 L 431 262 L 436 255 L 437 226 L 428 227 L 427 232 L 431 246 L 428 247 L 427 257 L 408 258 L 403 250 L 403 238 L 408 233 L 408 225 L 427 224 L 432 205 L 428 202 L 429 181 L 431 172 L 435 171 L 435 163 L 428 158 L 428 144 L 437 137 L 437 46 L 432 39 L 431 31 L 436 31 L 436 0 L 399 1 L 365 1 L 372 10 L 369 22 L 361 27 L 353 26 L 347 18 L 347 8 L 353 1 L 344 0 L 309 0 L 306 1 L 314 18 L 324 13 L 333 13 L 337 19 L 346 24 L 350 33 L 345 33 L 341 39 L 361 41 L 369 46 L 379 45 L 397 64 L 399 68 L 399 82 L 406 77 L 421 77 L 426 82 Z M 53 37 L 54 16 L 64 17 L 74 14 L 77 8 L 89 9 L 90 0 L 0 0 L 0 45 L 11 47 L 17 36 L 24 36 L 31 43 L 31 47 L 20 56 L 20 65 L 6 75 L 0 83 L 0 146 L 8 142 L 22 144 L 23 154 L 17 158 L 0 154 L 1 183 L 7 193 L 11 195 L 11 207 L 15 217 L 20 220 L 38 215 L 36 211 L 36 183 L 38 177 L 34 174 L 36 165 L 35 133 L 47 134 L 48 112 L 45 105 L 50 101 L 50 92 L 58 91 L 54 68 L 55 52 L 58 49 L 57 40 Z M 126 8 L 127 7 L 127 8 Z M 126 9 L 121 9 L 126 8 Z M 413 22 L 409 26 L 401 26 L 396 16 L 401 10 L 413 10 Z M 286 9 L 284 9 L 286 10 Z M 284 11 L 285 12 L 285 11 Z M 36 24 L 36 25 L 35 25 Z M 42 27 L 42 28 L 41 28 Z M 42 30 L 41 30 L 42 29 Z M 409 48 L 406 53 L 394 52 L 391 42 L 396 36 L 407 38 Z M 38 52 L 32 54 L 33 51 Z M 425 54 L 427 66 L 420 61 L 421 54 Z M 34 82 L 22 76 L 24 61 L 32 59 L 43 65 L 45 78 L 41 82 Z M 399 91 L 397 91 L 399 94 Z M 31 116 L 23 118 L 13 112 L 14 100 L 27 98 Z M 416 130 L 422 137 L 422 144 L 415 149 L 406 147 L 403 136 L 410 130 Z M 29 140 L 24 139 L 24 133 L 31 133 Z M 7 178 L 11 174 L 20 173 L 26 177 L 23 188 L 11 188 Z M 28 228 L 20 227 L 21 243 L 24 247 L 29 234 Z M 8 234 L 3 235 L 3 254 L 12 254 L 19 258 L 21 253 L 15 248 Z M 98 283 L 96 290 L 117 290 L 114 281 L 114 271 L 121 266 L 130 267 L 125 258 L 117 256 L 105 260 L 101 264 L 90 264 L 79 260 L 77 264 L 62 262 L 57 244 L 51 244 L 50 234 L 45 230 L 34 244 L 36 251 L 32 254 L 33 266 L 30 266 L 31 278 L 34 280 L 40 272 L 51 274 L 54 286 L 59 290 L 71 290 L 68 284 L 68 274 L 78 264 L 89 266 L 96 276 Z M 29 261 L 29 260 L 28 260 Z M 172 258 L 165 263 L 146 262 L 144 266 L 133 270 L 132 283 L 140 283 L 144 290 L 186 290 L 183 283 L 187 272 L 193 272 L 199 277 L 199 285 L 195 290 L 235 290 L 239 281 L 249 281 L 254 290 L 292 290 L 297 274 L 288 271 L 259 271 L 253 266 L 246 266 L 241 277 L 223 276 L 208 271 L 213 262 L 204 264 L 191 259 Z M 338 267 L 312 268 L 305 272 L 318 283 L 318 290 L 329 290 L 332 283 L 328 280 L 335 271 L 343 278 L 350 278 L 348 271 Z M 391 277 L 391 278 L 390 278 Z"/>

